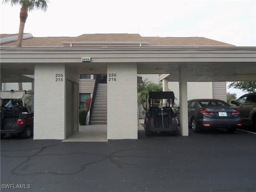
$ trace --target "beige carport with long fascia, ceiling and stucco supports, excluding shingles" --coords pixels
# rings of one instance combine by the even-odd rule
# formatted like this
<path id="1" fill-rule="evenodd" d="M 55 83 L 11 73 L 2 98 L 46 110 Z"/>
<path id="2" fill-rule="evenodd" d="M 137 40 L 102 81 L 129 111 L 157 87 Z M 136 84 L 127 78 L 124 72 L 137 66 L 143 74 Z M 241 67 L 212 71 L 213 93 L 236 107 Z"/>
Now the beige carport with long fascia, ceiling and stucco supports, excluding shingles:
<path id="1" fill-rule="evenodd" d="M 108 74 L 108 139 L 138 138 L 137 74 L 168 74 L 160 75 L 168 76 L 163 83 L 179 82 L 182 136 L 188 136 L 187 82 L 256 80 L 255 47 L 1 47 L 0 51 L 1 82 L 31 82 L 23 75 L 35 77 L 34 139 L 65 139 L 70 126 L 76 130 L 78 74 Z M 82 57 L 90 62 L 82 62 Z M 120 120 L 122 124 L 117 123 Z"/>

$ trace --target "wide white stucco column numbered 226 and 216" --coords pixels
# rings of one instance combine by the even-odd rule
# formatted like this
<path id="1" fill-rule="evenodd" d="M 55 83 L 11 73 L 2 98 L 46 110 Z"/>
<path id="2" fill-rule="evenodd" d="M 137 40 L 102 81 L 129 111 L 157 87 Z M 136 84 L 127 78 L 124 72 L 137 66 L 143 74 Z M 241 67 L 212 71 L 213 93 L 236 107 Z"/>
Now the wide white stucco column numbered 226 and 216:
<path id="1" fill-rule="evenodd" d="M 108 139 L 138 139 L 137 65 L 108 64 Z"/>

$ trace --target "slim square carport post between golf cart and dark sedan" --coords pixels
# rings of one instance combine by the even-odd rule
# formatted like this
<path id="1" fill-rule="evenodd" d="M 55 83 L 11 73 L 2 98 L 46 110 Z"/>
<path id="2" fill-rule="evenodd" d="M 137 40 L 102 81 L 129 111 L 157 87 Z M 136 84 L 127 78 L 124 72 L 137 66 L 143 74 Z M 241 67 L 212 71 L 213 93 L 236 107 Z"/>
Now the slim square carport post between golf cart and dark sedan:
<path id="1" fill-rule="evenodd" d="M 188 136 L 188 86 L 187 69 L 179 68 L 179 88 L 180 88 L 180 134 Z"/>

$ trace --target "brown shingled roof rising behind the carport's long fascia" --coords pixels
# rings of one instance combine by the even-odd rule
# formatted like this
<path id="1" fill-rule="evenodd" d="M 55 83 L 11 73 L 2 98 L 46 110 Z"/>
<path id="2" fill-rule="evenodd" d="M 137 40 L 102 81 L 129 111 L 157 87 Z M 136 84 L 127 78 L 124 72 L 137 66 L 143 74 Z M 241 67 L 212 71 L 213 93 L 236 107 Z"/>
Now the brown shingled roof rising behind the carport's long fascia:
<path id="1" fill-rule="evenodd" d="M 18 34 L 1 34 L 2 38 Z M 204 37 L 142 37 L 140 34 L 82 34 L 77 37 L 32 37 L 22 46 L 64 46 L 63 42 L 144 42 L 147 46 L 234 46 Z M 16 41 L 1 46 L 16 46 Z"/>

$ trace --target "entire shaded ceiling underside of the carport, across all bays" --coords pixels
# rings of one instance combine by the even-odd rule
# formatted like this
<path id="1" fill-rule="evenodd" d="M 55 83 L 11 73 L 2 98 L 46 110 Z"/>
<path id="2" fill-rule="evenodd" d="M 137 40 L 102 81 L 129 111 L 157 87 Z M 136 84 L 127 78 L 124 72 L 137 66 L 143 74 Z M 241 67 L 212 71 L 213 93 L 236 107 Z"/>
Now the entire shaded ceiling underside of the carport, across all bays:
<path id="1" fill-rule="evenodd" d="M 106 74 L 107 64 L 66 64 L 78 74 Z M 256 64 L 232 63 L 137 63 L 138 74 L 170 74 L 168 81 L 178 81 L 179 67 L 187 69 L 188 82 L 250 81 L 256 80 Z M 4 73 L 2 73 L 4 72 Z M 32 82 L 23 75 L 34 74 L 34 64 L 1 64 L 2 82 Z"/>

